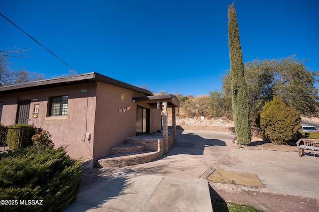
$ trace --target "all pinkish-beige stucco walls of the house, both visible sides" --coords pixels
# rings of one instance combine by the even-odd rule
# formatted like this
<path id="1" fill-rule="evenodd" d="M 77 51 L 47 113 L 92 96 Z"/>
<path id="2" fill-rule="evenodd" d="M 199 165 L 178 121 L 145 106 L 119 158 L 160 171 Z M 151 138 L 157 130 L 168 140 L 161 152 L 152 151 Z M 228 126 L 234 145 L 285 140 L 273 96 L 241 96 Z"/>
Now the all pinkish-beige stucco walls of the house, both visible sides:
<path id="1" fill-rule="evenodd" d="M 125 95 L 124 101 L 120 99 L 121 93 Z M 69 96 L 67 115 L 48 116 L 49 98 L 64 95 Z M 108 155 L 111 147 L 124 143 L 126 137 L 136 135 L 137 105 L 132 98 L 141 96 L 145 94 L 104 83 L 0 95 L 0 102 L 3 102 L 1 123 L 14 124 L 18 100 L 31 100 L 29 124 L 50 132 L 55 147 L 67 146 L 66 150 L 72 158 L 95 161 Z M 37 118 L 32 117 L 35 104 L 39 104 Z M 119 108 L 129 106 L 130 110 L 119 111 Z M 150 107 L 148 104 L 141 106 Z M 160 129 L 160 109 L 151 109 L 150 131 L 156 132 Z M 89 134 L 91 140 L 88 140 Z"/>

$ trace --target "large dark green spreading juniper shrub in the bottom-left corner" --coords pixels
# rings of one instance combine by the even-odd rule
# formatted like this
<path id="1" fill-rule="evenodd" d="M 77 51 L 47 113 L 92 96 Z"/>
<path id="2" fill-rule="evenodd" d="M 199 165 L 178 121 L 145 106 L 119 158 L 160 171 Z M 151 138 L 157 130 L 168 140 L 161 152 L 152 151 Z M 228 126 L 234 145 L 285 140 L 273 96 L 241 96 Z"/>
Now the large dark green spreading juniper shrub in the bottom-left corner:
<path id="1" fill-rule="evenodd" d="M 0 211 L 62 211 L 79 192 L 81 167 L 63 147 L 27 147 L 0 154 L 0 200 L 43 200 L 43 205 L 2 205 Z"/>

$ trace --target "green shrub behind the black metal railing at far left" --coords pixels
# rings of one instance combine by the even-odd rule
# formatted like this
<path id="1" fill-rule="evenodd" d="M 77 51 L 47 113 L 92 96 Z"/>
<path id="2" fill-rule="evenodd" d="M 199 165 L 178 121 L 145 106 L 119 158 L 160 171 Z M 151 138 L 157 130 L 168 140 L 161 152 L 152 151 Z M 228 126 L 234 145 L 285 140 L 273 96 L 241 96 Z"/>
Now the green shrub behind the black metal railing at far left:
<path id="1" fill-rule="evenodd" d="M 31 138 L 35 134 L 35 127 L 31 124 L 12 124 L 8 126 L 8 133 L 6 135 L 6 144 L 10 149 L 17 149 L 18 147 L 27 147 L 33 144 Z M 11 129 L 10 129 L 11 128 Z M 20 138 L 22 136 L 22 138 Z M 21 144 L 19 144 L 19 138 Z"/>

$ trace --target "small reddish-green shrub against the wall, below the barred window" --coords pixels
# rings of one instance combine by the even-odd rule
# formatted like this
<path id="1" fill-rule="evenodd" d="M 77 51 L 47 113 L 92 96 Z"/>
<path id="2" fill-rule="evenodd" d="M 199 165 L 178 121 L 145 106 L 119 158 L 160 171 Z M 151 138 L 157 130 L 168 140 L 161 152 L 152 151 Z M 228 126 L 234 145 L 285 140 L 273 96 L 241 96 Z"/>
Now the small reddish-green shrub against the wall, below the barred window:
<path id="1" fill-rule="evenodd" d="M 37 128 L 35 130 L 35 134 L 32 136 L 33 144 L 39 150 L 45 150 L 47 148 L 54 148 L 54 143 L 51 140 L 51 134 L 46 130 L 41 128 Z"/>

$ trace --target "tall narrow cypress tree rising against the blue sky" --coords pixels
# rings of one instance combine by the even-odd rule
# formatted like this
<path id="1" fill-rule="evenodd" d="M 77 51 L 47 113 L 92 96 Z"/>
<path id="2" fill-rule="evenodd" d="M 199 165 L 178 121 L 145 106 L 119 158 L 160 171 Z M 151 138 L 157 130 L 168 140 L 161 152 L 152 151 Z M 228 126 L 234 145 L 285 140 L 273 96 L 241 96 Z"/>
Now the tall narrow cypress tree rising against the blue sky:
<path id="1" fill-rule="evenodd" d="M 251 141 L 249 102 L 234 2 L 228 5 L 228 39 L 235 131 L 238 143 L 247 145 Z"/>

